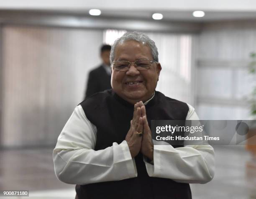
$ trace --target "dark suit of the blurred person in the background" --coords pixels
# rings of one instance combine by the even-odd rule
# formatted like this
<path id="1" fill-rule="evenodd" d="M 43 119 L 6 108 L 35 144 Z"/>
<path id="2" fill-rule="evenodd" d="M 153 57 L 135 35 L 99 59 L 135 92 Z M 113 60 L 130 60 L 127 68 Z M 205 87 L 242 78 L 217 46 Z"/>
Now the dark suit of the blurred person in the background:
<path id="1" fill-rule="evenodd" d="M 96 69 L 90 71 L 85 97 L 90 97 L 92 94 L 95 94 L 97 92 L 111 89 L 111 75 L 108 74 L 104 67 L 105 66 L 101 65 Z"/>

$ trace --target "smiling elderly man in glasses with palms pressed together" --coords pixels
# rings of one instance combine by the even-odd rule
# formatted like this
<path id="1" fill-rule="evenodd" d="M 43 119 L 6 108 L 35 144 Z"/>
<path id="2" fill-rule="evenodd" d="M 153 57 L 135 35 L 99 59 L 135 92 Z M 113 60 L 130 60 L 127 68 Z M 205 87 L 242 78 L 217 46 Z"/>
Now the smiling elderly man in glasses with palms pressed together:
<path id="1" fill-rule="evenodd" d="M 112 46 L 111 90 L 78 105 L 54 149 L 59 180 L 79 199 L 191 199 L 188 183 L 214 175 L 210 145 L 152 144 L 151 120 L 198 120 L 192 106 L 155 91 L 161 71 L 154 41 L 125 33 Z"/>

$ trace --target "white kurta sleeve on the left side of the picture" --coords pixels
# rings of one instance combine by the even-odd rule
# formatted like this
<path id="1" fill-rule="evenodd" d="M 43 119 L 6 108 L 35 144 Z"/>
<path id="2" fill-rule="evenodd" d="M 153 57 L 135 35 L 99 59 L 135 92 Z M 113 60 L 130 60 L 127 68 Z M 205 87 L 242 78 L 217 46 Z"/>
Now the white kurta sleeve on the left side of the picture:
<path id="1" fill-rule="evenodd" d="M 54 170 L 60 181 L 82 185 L 137 176 L 127 142 L 95 151 L 96 134 L 95 125 L 87 119 L 82 106 L 77 106 L 53 151 Z"/>

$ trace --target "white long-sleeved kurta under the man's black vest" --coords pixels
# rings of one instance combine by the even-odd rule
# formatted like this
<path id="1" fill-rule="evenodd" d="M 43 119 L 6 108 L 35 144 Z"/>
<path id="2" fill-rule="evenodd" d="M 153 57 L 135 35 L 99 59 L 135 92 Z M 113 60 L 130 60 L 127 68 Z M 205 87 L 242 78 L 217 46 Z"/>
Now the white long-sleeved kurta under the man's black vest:
<path id="1" fill-rule="evenodd" d="M 199 120 L 189 106 L 186 120 Z M 57 178 L 68 184 L 117 181 L 137 176 L 127 142 L 95 151 L 97 128 L 78 105 L 59 135 L 53 152 Z M 214 150 L 210 145 L 156 145 L 154 165 L 144 161 L 149 176 L 184 183 L 207 183 L 214 176 Z"/>

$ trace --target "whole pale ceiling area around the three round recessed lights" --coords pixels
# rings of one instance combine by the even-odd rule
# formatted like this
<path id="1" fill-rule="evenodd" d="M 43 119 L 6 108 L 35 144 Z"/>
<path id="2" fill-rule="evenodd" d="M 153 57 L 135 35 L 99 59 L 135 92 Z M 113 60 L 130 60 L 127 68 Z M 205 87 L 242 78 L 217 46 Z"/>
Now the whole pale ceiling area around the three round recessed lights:
<path id="1" fill-rule="evenodd" d="M 162 13 L 163 20 L 212 21 L 256 19 L 256 0 L 0 0 L 2 10 L 41 10 L 88 15 L 91 8 L 102 17 L 151 19 Z M 195 18 L 192 12 L 205 11 Z"/>

